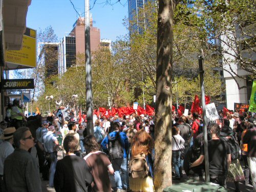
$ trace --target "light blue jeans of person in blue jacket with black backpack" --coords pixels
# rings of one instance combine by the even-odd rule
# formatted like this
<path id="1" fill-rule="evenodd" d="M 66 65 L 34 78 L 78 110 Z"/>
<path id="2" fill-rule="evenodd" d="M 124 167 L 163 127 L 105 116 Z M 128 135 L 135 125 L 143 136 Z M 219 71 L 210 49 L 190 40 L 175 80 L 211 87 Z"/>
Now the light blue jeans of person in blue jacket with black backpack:
<path id="1" fill-rule="evenodd" d="M 127 172 L 127 158 L 122 158 L 121 159 L 121 166 L 119 170 L 115 171 L 115 183 L 116 183 L 116 188 L 120 188 L 122 189 L 122 187 L 124 188 L 129 188 L 129 176 L 128 176 L 128 172 Z M 120 170 L 121 170 L 121 176 L 120 176 Z"/>

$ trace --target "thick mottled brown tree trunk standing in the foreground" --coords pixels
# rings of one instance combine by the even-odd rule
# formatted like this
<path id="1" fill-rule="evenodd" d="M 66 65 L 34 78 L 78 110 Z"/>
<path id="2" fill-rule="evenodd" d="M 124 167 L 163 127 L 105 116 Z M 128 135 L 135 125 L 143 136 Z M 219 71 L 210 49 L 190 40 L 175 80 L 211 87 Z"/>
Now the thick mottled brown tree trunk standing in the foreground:
<path id="1" fill-rule="evenodd" d="M 178 0 L 159 0 L 157 29 L 157 88 L 154 185 L 172 185 L 173 19 Z"/>

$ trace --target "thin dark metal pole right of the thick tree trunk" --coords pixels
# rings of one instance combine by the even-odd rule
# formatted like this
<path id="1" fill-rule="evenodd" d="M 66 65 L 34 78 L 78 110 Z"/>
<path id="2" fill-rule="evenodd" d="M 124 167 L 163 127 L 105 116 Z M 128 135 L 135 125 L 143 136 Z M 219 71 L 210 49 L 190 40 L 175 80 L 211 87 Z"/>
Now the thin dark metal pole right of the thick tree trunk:
<path id="1" fill-rule="evenodd" d="M 201 86 L 201 102 L 203 110 L 203 133 L 204 133 L 204 162 L 205 162 L 205 179 L 207 182 L 210 181 L 209 177 L 209 156 L 208 156 L 208 141 L 207 141 L 207 125 L 206 125 L 206 113 L 205 113 L 205 94 L 204 94 L 204 65 L 203 57 L 198 57 L 199 74 L 200 74 L 200 86 Z"/>

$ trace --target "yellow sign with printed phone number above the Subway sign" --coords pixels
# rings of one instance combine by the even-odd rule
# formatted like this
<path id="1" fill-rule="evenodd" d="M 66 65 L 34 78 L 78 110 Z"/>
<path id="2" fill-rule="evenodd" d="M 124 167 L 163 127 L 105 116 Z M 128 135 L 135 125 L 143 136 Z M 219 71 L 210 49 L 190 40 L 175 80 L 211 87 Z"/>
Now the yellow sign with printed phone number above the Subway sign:
<path id="1" fill-rule="evenodd" d="M 26 29 L 23 35 L 23 48 L 19 51 L 6 51 L 6 62 L 16 65 L 36 67 L 36 31 L 30 28 Z"/>

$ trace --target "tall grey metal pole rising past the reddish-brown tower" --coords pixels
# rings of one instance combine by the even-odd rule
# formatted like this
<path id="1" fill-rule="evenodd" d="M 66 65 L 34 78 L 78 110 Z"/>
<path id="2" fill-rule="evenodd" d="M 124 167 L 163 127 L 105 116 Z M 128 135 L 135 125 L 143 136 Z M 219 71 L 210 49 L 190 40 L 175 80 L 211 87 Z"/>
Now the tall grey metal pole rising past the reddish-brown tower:
<path id="1" fill-rule="evenodd" d="M 84 40 L 86 56 L 86 111 L 87 111 L 87 135 L 93 135 L 93 95 L 92 95 L 92 65 L 91 65 L 91 41 L 90 41 L 90 14 L 89 0 L 84 0 Z"/>

